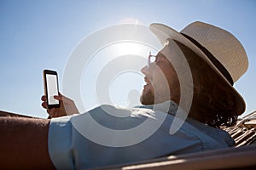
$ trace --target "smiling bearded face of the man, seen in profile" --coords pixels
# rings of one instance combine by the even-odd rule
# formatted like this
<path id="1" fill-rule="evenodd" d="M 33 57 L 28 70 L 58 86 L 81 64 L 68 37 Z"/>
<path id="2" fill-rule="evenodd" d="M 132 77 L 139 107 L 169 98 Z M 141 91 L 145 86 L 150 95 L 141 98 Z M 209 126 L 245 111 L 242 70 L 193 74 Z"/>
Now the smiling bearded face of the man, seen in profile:
<path id="1" fill-rule="evenodd" d="M 154 105 L 169 100 L 171 93 L 172 99 L 177 100 L 179 82 L 171 62 L 162 53 L 166 51 L 166 48 L 170 47 L 166 46 L 160 50 L 155 56 L 155 60 L 141 70 L 145 75 L 144 81 L 146 82 L 141 94 L 143 105 Z"/>

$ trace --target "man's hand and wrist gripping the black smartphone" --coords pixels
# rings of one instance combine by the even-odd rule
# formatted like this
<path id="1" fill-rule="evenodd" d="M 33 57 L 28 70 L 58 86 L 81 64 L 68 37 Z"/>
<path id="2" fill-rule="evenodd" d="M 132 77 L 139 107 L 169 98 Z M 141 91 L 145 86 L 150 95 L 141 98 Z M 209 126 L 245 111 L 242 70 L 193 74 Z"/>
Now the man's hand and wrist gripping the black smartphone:
<path id="1" fill-rule="evenodd" d="M 59 93 L 58 96 L 54 96 L 54 98 L 60 101 L 60 108 L 48 109 L 46 96 L 44 95 L 41 98 L 41 100 L 43 101 L 42 106 L 44 107 L 44 109 L 47 109 L 49 117 L 79 114 L 79 110 L 72 99 L 63 96 L 61 93 Z"/>

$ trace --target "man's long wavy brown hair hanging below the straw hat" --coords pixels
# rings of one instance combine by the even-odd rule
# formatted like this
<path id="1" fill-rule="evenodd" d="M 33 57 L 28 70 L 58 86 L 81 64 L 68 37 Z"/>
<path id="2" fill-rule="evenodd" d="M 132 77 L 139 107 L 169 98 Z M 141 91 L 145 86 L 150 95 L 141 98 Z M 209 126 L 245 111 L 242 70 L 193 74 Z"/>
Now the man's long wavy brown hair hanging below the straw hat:
<path id="1" fill-rule="evenodd" d="M 186 56 L 193 77 L 194 94 L 189 117 L 211 127 L 235 125 L 236 103 L 230 86 L 191 49 L 180 42 L 177 45 Z"/>

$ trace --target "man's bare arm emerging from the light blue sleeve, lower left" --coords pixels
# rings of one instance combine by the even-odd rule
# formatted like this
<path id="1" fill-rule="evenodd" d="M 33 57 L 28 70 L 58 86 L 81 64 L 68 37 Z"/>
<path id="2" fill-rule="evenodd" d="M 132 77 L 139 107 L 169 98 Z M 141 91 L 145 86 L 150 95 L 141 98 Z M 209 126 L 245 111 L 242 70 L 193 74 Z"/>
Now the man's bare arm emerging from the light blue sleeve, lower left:
<path id="1" fill-rule="evenodd" d="M 54 169 L 48 129 L 47 119 L 0 116 L 0 169 Z"/>

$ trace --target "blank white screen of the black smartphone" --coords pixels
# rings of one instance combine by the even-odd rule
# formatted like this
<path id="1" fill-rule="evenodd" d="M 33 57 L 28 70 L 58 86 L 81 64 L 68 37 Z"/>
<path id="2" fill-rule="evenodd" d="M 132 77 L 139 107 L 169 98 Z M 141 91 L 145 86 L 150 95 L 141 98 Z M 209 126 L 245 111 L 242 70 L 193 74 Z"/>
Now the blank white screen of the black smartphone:
<path id="1" fill-rule="evenodd" d="M 58 95 L 58 86 L 57 86 L 57 75 L 46 74 L 47 82 L 47 92 L 48 92 L 48 104 L 49 105 L 58 105 L 59 100 L 55 99 L 54 96 Z"/>

